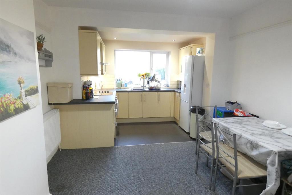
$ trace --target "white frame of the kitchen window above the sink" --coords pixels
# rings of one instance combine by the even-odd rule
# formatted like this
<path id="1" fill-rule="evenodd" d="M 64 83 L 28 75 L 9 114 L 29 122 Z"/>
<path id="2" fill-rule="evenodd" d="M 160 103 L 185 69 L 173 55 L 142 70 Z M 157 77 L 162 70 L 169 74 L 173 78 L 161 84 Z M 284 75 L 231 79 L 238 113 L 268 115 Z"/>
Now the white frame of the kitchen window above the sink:
<path id="1" fill-rule="evenodd" d="M 140 49 L 115 49 L 114 50 L 114 77 L 116 78 L 116 51 L 145 51 L 150 52 L 150 65 L 149 65 L 149 73 L 153 75 L 153 54 L 166 54 L 166 67 L 165 67 L 165 83 L 169 84 L 169 53 L 170 51 L 159 51 L 159 50 L 140 50 Z"/>

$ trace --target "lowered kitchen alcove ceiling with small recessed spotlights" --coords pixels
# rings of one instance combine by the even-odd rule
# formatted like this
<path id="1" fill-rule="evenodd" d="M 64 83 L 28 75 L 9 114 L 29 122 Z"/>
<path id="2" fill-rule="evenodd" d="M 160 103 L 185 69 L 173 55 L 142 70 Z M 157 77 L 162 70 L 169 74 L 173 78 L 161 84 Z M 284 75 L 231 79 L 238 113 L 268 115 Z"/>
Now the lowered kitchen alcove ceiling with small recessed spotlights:
<path id="1" fill-rule="evenodd" d="M 108 28 L 97 29 L 103 40 L 120 41 L 146 41 L 146 42 L 169 42 L 169 43 L 190 43 L 205 37 L 206 33 L 165 31 L 165 30 L 145 30 L 129 28 Z M 117 39 L 114 39 L 116 37 Z M 173 42 L 172 40 L 175 40 Z"/>

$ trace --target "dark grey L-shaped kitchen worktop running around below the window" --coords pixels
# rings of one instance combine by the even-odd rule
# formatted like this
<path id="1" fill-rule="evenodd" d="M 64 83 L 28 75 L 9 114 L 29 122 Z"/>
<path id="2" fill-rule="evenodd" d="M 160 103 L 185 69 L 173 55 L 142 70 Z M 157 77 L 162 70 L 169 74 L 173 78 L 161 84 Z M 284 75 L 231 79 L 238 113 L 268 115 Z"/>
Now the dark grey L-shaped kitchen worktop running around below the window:
<path id="1" fill-rule="evenodd" d="M 76 105 L 76 104 L 105 104 L 105 103 L 114 103 L 116 99 L 116 92 L 178 92 L 180 89 L 175 88 L 162 88 L 162 89 L 100 89 L 100 91 L 112 91 L 112 96 L 99 96 L 98 99 L 73 99 L 68 103 L 48 103 L 49 105 Z"/>

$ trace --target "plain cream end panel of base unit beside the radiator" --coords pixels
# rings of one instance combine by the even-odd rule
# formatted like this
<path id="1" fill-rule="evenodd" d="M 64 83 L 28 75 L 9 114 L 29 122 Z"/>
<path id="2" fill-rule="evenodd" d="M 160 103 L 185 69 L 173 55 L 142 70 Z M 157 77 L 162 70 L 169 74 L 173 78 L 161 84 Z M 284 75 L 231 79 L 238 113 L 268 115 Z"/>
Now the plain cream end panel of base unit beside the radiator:
<path id="1" fill-rule="evenodd" d="M 61 149 L 114 146 L 114 104 L 54 105 L 60 109 Z"/>

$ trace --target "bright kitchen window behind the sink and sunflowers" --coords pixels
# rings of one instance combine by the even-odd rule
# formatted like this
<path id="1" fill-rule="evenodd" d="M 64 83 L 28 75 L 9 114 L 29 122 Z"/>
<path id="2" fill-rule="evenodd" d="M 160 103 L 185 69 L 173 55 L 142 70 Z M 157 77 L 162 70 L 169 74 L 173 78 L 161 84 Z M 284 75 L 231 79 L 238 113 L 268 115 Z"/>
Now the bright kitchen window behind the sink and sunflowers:
<path id="1" fill-rule="evenodd" d="M 115 50 L 115 78 L 128 84 L 142 84 L 138 73 L 150 73 L 168 84 L 168 52 L 145 50 Z"/>

